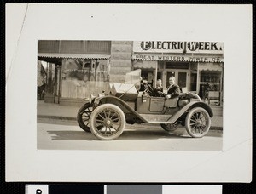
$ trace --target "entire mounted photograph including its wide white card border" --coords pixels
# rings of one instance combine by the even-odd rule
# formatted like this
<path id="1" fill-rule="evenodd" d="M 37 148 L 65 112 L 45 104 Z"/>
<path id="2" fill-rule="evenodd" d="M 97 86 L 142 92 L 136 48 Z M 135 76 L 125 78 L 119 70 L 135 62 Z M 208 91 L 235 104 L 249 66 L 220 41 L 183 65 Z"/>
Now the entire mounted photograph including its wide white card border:
<path id="1" fill-rule="evenodd" d="M 7 182 L 252 181 L 252 6 L 6 5 Z"/>

